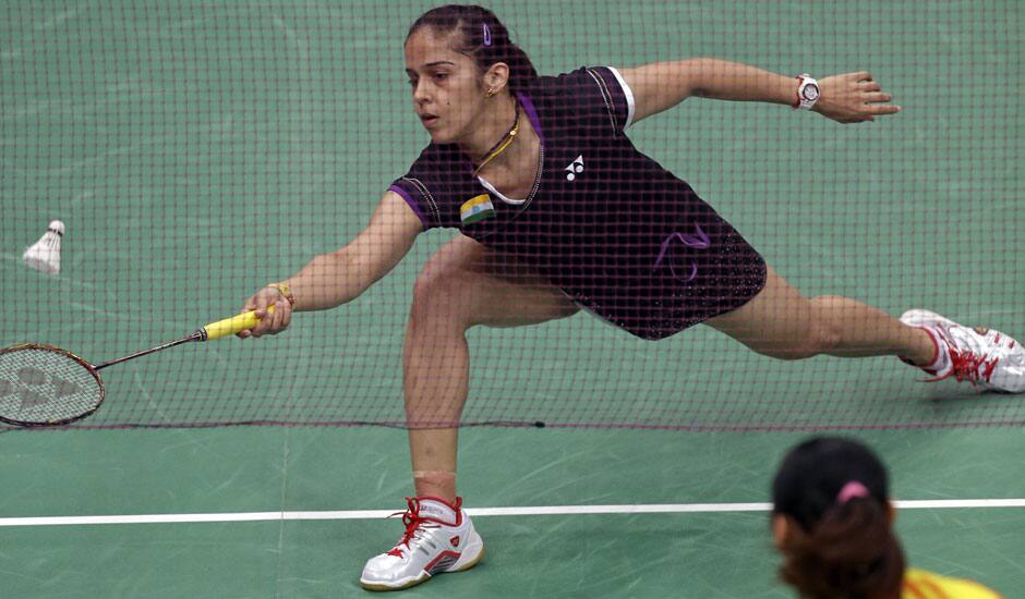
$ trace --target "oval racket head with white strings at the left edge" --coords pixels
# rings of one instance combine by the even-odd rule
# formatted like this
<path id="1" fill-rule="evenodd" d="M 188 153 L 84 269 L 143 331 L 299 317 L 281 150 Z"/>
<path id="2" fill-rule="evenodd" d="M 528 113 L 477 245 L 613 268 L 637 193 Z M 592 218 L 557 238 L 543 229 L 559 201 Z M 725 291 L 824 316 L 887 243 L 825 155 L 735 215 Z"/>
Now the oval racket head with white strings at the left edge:
<path id="1" fill-rule="evenodd" d="M 0 350 L 0 421 L 60 426 L 104 403 L 96 368 L 67 350 L 26 343 Z"/>

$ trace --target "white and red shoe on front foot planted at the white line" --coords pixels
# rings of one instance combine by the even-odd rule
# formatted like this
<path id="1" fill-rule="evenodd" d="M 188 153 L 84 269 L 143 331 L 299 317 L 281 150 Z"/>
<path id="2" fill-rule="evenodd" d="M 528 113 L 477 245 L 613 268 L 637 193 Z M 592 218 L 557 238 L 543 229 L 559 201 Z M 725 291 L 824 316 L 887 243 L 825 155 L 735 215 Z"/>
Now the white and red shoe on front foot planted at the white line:
<path id="1" fill-rule="evenodd" d="M 456 504 L 433 497 L 406 498 L 406 534 L 387 553 L 371 558 L 360 584 L 369 590 L 398 590 L 423 583 L 439 572 L 460 572 L 484 557 L 484 541 Z M 396 514 L 397 515 L 397 514 Z"/>

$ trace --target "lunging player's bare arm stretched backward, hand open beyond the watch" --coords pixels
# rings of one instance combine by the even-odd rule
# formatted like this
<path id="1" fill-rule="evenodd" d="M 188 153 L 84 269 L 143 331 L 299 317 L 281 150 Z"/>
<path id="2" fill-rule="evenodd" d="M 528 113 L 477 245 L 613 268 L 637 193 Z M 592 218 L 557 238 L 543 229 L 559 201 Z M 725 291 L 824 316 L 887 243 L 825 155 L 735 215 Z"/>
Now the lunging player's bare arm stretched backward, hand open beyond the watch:
<path id="1" fill-rule="evenodd" d="M 654 62 L 619 73 L 634 93 L 634 121 L 670 109 L 691 96 L 720 100 L 793 105 L 797 78 L 757 66 L 711 58 Z M 841 123 L 875 121 L 901 107 L 867 71 L 819 80 L 821 96 L 816 112 Z"/>

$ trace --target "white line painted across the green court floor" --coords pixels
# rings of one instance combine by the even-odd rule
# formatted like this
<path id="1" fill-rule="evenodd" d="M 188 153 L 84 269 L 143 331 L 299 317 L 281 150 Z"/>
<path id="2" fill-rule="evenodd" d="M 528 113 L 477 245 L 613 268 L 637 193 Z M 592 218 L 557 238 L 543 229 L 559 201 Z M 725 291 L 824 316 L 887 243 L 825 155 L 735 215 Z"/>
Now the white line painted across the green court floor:
<path id="1" fill-rule="evenodd" d="M 1025 499 L 950 499 L 895 501 L 901 510 L 950 510 L 963 508 L 1025 508 Z M 467 509 L 471 516 L 545 516 L 577 514 L 709 514 L 722 512 L 768 512 L 769 503 L 667 503 L 654 505 L 539 505 L 530 508 Z M 377 519 L 389 510 L 337 512 L 237 512 L 222 514 L 136 514 L 110 516 L 4 517 L 3 526 L 64 526 L 83 524 L 177 524 L 198 522 L 262 522 L 282 519 Z"/>

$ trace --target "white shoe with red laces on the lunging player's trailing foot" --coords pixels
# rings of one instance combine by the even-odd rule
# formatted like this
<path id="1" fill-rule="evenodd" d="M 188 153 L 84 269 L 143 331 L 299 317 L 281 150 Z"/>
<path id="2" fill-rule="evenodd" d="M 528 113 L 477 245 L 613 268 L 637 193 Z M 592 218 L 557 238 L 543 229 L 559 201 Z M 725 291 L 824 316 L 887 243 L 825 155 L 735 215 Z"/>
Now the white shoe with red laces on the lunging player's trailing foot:
<path id="1" fill-rule="evenodd" d="M 907 310 L 901 322 L 932 333 L 940 354 L 933 368 L 922 368 L 934 377 L 929 380 L 954 377 L 980 390 L 1025 392 L 1025 349 L 1006 334 L 965 327 L 929 310 Z"/>

